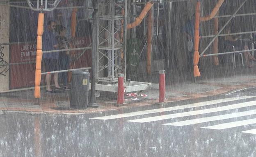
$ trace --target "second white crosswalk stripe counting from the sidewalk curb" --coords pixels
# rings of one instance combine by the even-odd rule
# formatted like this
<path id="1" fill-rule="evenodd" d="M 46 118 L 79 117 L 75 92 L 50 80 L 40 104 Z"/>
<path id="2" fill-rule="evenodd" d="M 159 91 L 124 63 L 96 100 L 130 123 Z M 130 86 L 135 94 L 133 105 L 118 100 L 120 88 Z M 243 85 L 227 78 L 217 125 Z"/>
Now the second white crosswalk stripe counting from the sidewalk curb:
<path id="1" fill-rule="evenodd" d="M 239 104 L 221 106 L 221 107 L 216 107 L 216 108 L 208 108 L 208 109 L 204 109 L 204 110 L 189 111 L 189 112 L 183 112 L 183 113 L 174 113 L 174 114 L 169 114 L 169 115 L 160 115 L 160 116 L 155 116 L 155 117 L 128 120 L 126 122 L 137 122 L 137 123 L 153 122 L 153 121 L 164 120 L 164 119 L 171 119 L 171 118 L 178 118 L 178 117 L 185 117 L 185 116 L 192 116 L 192 115 L 200 115 L 200 114 L 205 114 L 205 113 L 226 111 L 226 110 L 231 110 L 231 109 L 235 109 L 235 108 L 242 108 L 242 107 L 248 107 L 248 106 L 254 106 L 254 105 L 256 105 L 256 101 L 242 102 Z"/>

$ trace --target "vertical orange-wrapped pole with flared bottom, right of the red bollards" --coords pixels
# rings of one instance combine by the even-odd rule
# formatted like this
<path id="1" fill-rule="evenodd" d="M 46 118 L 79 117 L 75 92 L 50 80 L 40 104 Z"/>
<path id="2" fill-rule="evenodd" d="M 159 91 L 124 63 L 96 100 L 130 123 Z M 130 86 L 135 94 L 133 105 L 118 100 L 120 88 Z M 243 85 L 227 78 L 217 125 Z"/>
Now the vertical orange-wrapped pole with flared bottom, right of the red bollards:
<path id="1" fill-rule="evenodd" d="M 198 62 L 199 62 L 199 25 L 200 25 L 200 1 L 197 1 L 196 4 L 196 13 L 195 13 L 195 31 L 194 31 L 194 57 L 193 57 L 193 63 L 194 63 L 194 77 L 201 76 L 199 68 L 198 68 Z"/>

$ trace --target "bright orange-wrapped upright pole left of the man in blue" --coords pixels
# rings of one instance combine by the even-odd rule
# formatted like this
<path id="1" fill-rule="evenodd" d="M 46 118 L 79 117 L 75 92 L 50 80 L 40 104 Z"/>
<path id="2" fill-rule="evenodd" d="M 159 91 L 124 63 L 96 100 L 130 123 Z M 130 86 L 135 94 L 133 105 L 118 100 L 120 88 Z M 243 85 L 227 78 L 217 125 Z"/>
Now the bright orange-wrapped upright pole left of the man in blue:
<path id="1" fill-rule="evenodd" d="M 43 20 L 44 13 L 38 14 L 38 23 L 37 23 L 37 60 L 36 60 L 36 72 L 35 72 L 35 89 L 34 97 L 40 98 L 40 82 L 41 82 L 41 63 L 42 63 L 42 35 L 43 35 Z"/>

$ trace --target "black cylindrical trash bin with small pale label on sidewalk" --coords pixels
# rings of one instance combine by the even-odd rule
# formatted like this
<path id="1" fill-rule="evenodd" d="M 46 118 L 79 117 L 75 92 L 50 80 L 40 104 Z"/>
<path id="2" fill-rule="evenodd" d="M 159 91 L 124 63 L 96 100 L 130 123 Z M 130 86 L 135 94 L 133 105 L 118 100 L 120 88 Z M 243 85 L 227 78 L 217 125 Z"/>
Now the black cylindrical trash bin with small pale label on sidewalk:
<path id="1" fill-rule="evenodd" d="M 70 107 L 86 109 L 88 106 L 90 73 L 88 71 L 73 71 L 71 81 Z"/>

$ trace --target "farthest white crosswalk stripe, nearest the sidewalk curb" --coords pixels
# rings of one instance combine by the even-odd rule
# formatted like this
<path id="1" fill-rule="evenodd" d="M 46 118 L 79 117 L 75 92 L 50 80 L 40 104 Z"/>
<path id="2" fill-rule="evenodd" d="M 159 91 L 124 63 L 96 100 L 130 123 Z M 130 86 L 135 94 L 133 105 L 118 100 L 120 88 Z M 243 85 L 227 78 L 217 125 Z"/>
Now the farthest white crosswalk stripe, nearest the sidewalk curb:
<path id="1" fill-rule="evenodd" d="M 123 117 L 132 117 L 137 115 L 146 115 L 151 113 L 158 113 L 158 112 L 166 112 L 166 111 L 174 111 L 174 110 L 181 110 L 185 108 L 192 108 L 192 107 L 200 107 L 200 106 L 207 106 L 222 102 L 229 102 L 233 100 L 242 100 L 247 99 L 251 97 L 231 97 L 231 98 L 225 98 L 225 99 L 219 99 L 219 100 L 210 100 L 206 102 L 198 102 L 194 104 L 187 104 L 187 105 L 181 105 L 181 106 L 173 106 L 173 107 L 167 107 L 167 108 L 158 108 L 158 109 L 152 109 L 152 110 L 146 110 L 146 111 L 137 111 L 137 112 L 131 112 L 131 113 L 123 113 L 123 114 L 117 114 L 117 115 L 108 115 L 108 116 L 102 116 L 102 117 L 94 117 L 90 119 L 101 119 L 101 120 L 109 120 L 109 119 L 116 119 L 116 118 L 123 118 Z"/>

